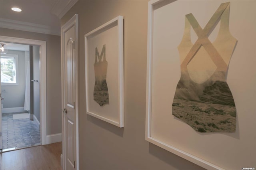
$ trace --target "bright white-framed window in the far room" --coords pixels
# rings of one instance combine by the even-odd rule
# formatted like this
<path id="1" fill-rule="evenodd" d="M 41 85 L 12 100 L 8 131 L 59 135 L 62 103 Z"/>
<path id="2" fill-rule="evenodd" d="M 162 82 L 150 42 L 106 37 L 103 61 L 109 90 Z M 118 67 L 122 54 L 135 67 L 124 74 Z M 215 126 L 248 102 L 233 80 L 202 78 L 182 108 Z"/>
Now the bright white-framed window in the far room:
<path id="1" fill-rule="evenodd" d="M 18 55 L 1 55 L 1 84 L 18 85 Z"/>

